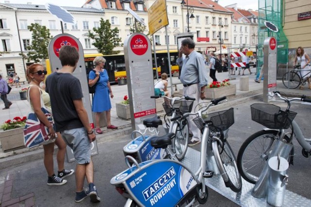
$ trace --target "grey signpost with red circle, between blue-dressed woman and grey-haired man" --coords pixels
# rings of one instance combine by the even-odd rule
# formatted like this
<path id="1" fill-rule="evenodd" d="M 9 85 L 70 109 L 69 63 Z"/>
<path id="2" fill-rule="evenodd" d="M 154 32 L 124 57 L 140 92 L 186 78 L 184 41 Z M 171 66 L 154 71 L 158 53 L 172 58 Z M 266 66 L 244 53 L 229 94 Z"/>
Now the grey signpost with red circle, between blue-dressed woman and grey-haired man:
<path id="1" fill-rule="evenodd" d="M 133 131 L 146 118 L 156 113 L 151 44 L 142 33 L 134 33 L 124 41 L 124 58 Z"/>

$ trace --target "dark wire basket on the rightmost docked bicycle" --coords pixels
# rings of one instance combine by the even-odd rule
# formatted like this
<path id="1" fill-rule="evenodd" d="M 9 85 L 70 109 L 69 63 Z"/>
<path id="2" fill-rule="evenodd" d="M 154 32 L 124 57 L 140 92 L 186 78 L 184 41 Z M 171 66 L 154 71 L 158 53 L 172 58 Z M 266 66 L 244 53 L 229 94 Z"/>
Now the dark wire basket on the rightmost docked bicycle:
<path id="1" fill-rule="evenodd" d="M 274 104 L 252 104 L 252 120 L 270 129 L 287 129 L 296 116 L 294 111 L 282 111 Z"/>

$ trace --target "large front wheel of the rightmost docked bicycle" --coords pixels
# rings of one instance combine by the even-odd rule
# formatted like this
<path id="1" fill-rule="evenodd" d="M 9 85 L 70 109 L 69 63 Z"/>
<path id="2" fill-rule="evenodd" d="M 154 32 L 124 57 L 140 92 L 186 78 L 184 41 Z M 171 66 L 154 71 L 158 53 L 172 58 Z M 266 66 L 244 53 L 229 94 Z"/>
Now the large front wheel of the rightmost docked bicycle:
<path id="1" fill-rule="evenodd" d="M 257 182 L 278 139 L 277 134 L 276 130 L 261 130 L 242 144 L 238 154 L 238 168 L 246 181 L 253 184 Z M 290 138 L 285 136 L 284 140 L 288 142 Z"/>

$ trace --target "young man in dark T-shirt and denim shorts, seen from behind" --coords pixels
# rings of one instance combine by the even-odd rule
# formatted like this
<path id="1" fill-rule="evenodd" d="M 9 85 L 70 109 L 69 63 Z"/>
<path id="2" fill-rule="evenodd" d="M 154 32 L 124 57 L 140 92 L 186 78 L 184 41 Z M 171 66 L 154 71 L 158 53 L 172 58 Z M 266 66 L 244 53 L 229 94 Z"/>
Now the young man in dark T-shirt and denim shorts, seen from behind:
<path id="1" fill-rule="evenodd" d="M 75 47 L 63 46 L 59 59 L 63 67 L 47 77 L 46 92 L 51 98 L 56 132 L 61 133 L 77 161 L 75 202 L 79 203 L 88 196 L 91 202 L 100 202 L 94 185 L 91 157 L 91 142 L 96 137 L 83 106 L 80 81 L 72 75 L 77 68 L 79 52 Z M 86 189 L 83 188 L 85 177 L 88 182 Z"/>

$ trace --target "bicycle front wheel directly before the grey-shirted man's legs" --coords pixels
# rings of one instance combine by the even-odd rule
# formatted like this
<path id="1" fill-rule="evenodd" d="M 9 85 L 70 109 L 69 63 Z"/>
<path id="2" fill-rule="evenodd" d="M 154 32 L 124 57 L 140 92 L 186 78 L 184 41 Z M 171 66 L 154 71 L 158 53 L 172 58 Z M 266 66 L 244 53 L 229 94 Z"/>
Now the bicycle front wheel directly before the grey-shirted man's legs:
<path id="1" fill-rule="evenodd" d="M 177 159 L 182 160 L 188 149 L 189 141 L 189 123 L 186 118 L 180 120 L 175 133 L 174 153 Z"/>

